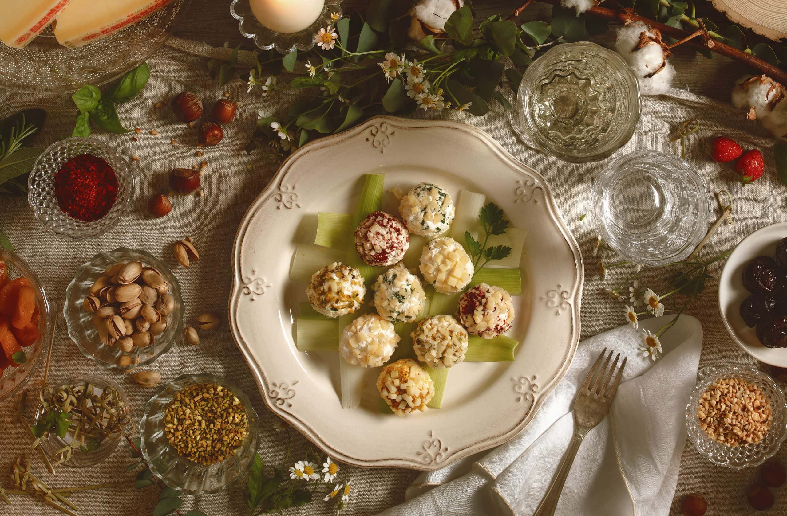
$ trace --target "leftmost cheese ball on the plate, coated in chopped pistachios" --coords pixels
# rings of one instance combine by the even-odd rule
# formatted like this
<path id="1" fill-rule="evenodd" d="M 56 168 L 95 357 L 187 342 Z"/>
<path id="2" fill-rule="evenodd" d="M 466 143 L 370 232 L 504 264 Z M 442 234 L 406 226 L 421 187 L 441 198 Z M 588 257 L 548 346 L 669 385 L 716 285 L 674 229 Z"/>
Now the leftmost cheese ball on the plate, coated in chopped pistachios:
<path id="1" fill-rule="evenodd" d="M 326 317 L 352 314 L 364 304 L 366 286 L 358 269 L 334 262 L 316 271 L 306 288 L 309 304 Z"/>

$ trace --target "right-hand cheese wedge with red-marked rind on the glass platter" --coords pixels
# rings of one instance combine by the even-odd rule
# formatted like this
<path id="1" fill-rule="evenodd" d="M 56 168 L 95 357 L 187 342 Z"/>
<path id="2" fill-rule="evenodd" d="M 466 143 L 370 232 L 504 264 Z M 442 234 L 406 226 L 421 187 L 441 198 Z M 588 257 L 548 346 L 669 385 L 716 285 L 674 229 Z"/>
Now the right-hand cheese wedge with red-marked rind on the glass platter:
<path id="1" fill-rule="evenodd" d="M 169 2 L 172 0 L 71 0 L 57 17 L 54 35 L 61 45 L 77 48 L 113 35 Z"/>

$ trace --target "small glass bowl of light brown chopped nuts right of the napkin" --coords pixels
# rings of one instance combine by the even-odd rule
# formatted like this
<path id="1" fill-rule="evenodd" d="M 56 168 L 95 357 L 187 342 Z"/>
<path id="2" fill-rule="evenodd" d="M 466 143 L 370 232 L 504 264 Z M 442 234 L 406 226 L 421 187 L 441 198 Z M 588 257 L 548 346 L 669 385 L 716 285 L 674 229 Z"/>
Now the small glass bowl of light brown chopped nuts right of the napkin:
<path id="1" fill-rule="evenodd" d="M 734 470 L 759 466 L 787 437 L 785 393 L 759 370 L 703 367 L 686 404 L 686 428 L 711 463 Z"/>

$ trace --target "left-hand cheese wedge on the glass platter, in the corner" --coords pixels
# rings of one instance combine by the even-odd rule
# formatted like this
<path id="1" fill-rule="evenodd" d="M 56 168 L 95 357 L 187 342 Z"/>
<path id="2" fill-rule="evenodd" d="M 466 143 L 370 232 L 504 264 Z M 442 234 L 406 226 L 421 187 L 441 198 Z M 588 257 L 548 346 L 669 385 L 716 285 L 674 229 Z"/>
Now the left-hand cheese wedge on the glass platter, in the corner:
<path id="1" fill-rule="evenodd" d="M 0 0 L 0 40 L 24 48 L 71 0 Z"/>

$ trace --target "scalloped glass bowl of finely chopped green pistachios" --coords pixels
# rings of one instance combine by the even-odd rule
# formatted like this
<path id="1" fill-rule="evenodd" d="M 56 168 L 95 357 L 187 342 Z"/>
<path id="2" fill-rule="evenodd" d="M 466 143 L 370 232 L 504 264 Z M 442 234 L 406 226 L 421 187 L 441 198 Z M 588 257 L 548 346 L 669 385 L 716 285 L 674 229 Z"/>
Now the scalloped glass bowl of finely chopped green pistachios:
<path id="1" fill-rule="evenodd" d="M 260 420 L 235 385 L 183 374 L 148 401 L 140 451 L 164 484 L 190 495 L 219 492 L 251 467 Z"/>

